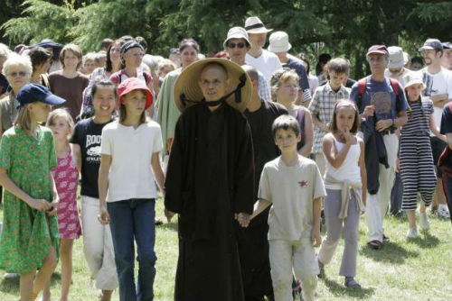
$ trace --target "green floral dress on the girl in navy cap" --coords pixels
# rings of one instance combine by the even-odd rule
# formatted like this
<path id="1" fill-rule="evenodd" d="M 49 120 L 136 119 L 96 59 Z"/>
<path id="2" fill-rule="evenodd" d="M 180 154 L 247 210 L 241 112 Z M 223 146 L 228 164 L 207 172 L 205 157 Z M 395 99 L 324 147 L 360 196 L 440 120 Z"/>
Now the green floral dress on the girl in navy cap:
<path id="1" fill-rule="evenodd" d="M 52 132 L 40 127 L 33 137 L 14 126 L 0 144 L 0 167 L 33 198 L 52 202 L 51 169 L 57 165 Z M 57 217 L 37 211 L 9 191 L 4 193 L 3 231 L 0 238 L 0 269 L 26 274 L 39 269 L 53 247 L 59 252 Z"/>

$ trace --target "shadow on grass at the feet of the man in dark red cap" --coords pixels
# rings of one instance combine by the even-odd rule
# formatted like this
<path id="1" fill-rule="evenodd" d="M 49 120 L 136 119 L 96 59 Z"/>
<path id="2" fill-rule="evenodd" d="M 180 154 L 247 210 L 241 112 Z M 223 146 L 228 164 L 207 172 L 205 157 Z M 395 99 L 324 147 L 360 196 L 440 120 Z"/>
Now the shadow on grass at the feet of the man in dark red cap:
<path id="1" fill-rule="evenodd" d="M 402 264 L 407 258 L 419 256 L 419 252 L 408 251 L 395 242 L 383 242 L 380 250 L 372 250 L 365 244 L 361 248 L 360 254 L 372 258 L 375 261 L 391 262 L 394 264 Z"/>

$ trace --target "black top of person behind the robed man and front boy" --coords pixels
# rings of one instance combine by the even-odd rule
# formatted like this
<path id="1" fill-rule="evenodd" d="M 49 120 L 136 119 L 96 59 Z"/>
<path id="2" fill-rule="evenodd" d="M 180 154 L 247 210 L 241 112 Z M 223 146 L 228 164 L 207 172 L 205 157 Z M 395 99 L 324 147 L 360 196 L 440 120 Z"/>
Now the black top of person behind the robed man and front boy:
<path id="1" fill-rule="evenodd" d="M 254 149 L 254 170 L 255 170 L 255 190 L 258 195 L 260 173 L 264 169 L 265 163 L 274 160 L 279 155 L 278 147 L 271 132 L 271 125 L 279 115 L 288 114 L 283 105 L 270 103 L 261 100 L 259 110 L 249 112 L 245 110 L 245 116 L 250 123 L 253 149 Z"/>

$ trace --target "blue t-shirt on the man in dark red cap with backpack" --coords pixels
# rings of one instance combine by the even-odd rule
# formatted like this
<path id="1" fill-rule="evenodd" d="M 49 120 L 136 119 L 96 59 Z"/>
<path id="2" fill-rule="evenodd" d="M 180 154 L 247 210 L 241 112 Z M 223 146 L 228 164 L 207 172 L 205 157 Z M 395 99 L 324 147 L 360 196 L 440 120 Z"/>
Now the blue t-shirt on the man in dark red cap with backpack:
<path id="1" fill-rule="evenodd" d="M 397 96 L 391 87 L 389 78 L 379 82 L 374 81 L 370 76 L 366 78 L 366 88 L 364 90 L 362 104 L 359 100 L 359 81 L 356 82 L 350 93 L 350 99 L 358 105 L 360 114 L 364 112 L 366 105 L 375 105 L 376 121 L 384 119 L 395 119 L 401 111 L 408 111 L 409 105 L 403 92 L 403 87 L 399 84 L 399 105 L 396 104 Z"/>

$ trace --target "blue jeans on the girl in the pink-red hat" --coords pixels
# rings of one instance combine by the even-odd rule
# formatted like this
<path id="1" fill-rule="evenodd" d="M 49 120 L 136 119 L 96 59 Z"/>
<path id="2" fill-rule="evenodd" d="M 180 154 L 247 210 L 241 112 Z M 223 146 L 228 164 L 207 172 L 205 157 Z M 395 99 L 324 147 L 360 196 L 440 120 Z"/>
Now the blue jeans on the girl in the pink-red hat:
<path id="1" fill-rule="evenodd" d="M 155 199 L 132 198 L 107 204 L 115 248 L 115 262 L 121 301 L 154 299 Z M 137 242 L 138 284 L 135 286 L 135 247 Z"/>

